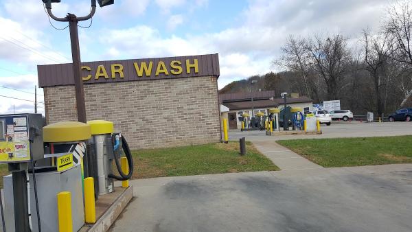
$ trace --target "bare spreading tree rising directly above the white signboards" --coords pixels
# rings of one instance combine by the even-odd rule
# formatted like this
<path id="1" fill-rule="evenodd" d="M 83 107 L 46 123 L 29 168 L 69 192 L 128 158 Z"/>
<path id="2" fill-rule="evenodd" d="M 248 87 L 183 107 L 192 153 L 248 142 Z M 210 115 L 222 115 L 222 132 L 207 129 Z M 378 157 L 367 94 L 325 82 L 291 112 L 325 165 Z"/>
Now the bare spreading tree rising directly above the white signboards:
<path id="1" fill-rule="evenodd" d="M 339 99 L 345 84 L 347 65 L 351 60 L 345 38 L 341 34 L 325 40 L 321 36 L 314 36 L 314 41 L 308 44 L 307 49 L 314 60 L 314 70 L 325 80 L 328 99 Z"/>

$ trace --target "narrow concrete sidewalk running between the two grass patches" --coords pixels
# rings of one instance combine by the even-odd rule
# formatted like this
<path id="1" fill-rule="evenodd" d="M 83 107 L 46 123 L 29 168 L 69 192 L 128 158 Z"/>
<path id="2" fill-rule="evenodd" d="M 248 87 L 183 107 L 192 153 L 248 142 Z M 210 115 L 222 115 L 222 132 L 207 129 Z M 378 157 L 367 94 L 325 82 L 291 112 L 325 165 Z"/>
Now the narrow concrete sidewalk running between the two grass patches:
<path id="1" fill-rule="evenodd" d="M 306 170 L 323 168 L 275 141 L 253 141 L 253 145 L 281 170 Z"/>

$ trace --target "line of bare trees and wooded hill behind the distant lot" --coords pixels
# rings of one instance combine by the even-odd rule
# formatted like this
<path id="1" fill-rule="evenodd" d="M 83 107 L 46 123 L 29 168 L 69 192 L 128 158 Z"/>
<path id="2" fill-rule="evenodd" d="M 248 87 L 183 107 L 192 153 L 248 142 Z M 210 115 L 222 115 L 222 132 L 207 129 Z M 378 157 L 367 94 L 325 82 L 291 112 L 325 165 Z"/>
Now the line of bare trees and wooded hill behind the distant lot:
<path id="1" fill-rule="evenodd" d="M 341 100 L 354 113 L 392 113 L 412 105 L 412 3 L 402 0 L 387 8 L 377 32 L 361 38 L 343 34 L 288 36 L 273 66 L 285 71 L 251 76 L 228 84 L 220 93 L 253 88 L 300 93 L 314 103 Z M 254 90 L 255 91 L 255 90 Z"/>

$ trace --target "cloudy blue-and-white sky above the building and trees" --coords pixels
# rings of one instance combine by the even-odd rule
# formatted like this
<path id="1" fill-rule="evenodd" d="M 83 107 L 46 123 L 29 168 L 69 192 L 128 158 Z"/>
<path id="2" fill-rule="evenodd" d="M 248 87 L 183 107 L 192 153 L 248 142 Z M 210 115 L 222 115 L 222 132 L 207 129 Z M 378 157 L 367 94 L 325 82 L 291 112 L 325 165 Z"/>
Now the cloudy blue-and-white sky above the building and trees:
<path id="1" fill-rule="evenodd" d="M 219 89 L 276 71 L 288 35 L 376 29 L 389 0 L 115 0 L 79 28 L 82 61 L 219 53 Z M 53 4 L 57 16 L 88 14 L 90 0 Z M 89 26 L 90 21 L 81 22 Z M 67 23 L 52 21 L 62 29 Z M 36 65 L 71 62 L 69 31 L 50 25 L 41 0 L 0 0 L 0 114 L 34 111 Z M 5 87 L 18 89 L 5 89 Z M 38 89 L 43 102 L 43 89 Z M 15 97 L 23 100 L 11 99 Z M 24 101 L 25 100 L 25 101 Z M 39 104 L 39 112 L 44 105 Z M 14 106 L 14 107 L 13 107 Z"/>

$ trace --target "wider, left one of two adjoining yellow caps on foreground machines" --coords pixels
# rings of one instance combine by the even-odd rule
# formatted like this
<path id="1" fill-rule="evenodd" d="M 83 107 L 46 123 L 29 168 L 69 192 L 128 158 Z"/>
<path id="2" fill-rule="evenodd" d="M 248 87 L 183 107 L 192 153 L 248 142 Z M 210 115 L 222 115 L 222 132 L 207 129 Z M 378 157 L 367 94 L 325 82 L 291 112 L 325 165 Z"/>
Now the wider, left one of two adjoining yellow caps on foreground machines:
<path id="1" fill-rule="evenodd" d="M 60 121 L 43 127 L 43 141 L 49 143 L 82 141 L 90 138 L 90 125 L 79 121 Z"/>

